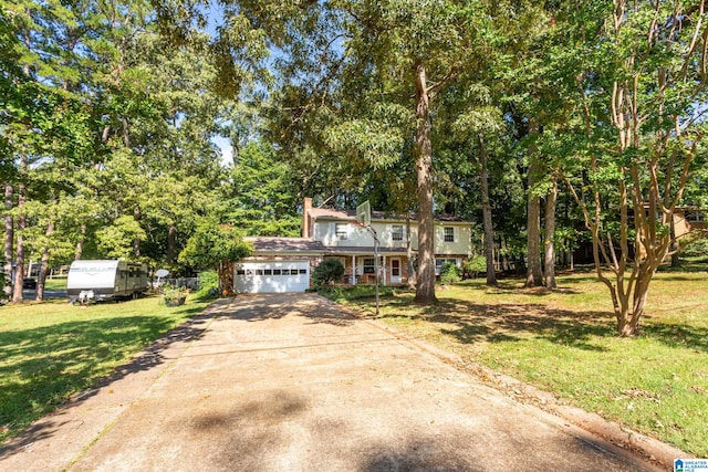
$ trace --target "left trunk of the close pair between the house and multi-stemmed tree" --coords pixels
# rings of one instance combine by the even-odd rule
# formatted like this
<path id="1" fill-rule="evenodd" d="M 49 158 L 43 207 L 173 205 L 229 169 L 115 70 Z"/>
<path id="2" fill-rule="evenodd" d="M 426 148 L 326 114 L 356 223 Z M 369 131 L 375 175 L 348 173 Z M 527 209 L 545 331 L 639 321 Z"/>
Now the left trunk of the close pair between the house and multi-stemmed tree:
<path id="1" fill-rule="evenodd" d="M 531 119 L 529 134 L 539 133 L 539 124 Z M 541 199 L 535 190 L 535 185 L 540 172 L 539 156 L 537 156 L 535 145 L 529 149 L 529 200 L 527 204 L 527 287 L 543 285 L 543 273 L 541 271 Z"/>

